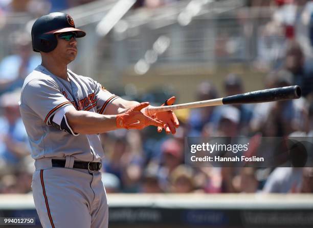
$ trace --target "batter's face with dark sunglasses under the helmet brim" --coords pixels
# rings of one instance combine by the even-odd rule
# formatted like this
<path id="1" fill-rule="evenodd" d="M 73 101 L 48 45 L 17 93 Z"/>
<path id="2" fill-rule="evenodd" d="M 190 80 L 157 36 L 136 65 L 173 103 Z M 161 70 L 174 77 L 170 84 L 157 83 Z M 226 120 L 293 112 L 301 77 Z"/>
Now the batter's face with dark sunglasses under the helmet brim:
<path id="1" fill-rule="evenodd" d="M 77 55 L 76 34 L 73 32 L 66 32 L 56 34 L 56 37 L 58 39 L 58 45 L 51 54 L 66 64 L 74 61 Z"/>

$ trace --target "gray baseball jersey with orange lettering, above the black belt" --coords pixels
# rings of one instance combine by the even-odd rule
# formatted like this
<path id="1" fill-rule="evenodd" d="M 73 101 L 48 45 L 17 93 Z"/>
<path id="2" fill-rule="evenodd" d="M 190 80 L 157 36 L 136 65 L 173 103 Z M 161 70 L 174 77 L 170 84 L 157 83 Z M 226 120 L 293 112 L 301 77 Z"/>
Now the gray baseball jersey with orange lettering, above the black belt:
<path id="1" fill-rule="evenodd" d="M 34 159 L 72 156 L 75 160 L 99 162 L 104 156 L 100 136 L 79 135 L 52 126 L 52 118 L 67 106 L 104 114 L 118 96 L 91 78 L 68 70 L 69 81 L 56 77 L 39 65 L 25 79 L 20 113 Z"/>

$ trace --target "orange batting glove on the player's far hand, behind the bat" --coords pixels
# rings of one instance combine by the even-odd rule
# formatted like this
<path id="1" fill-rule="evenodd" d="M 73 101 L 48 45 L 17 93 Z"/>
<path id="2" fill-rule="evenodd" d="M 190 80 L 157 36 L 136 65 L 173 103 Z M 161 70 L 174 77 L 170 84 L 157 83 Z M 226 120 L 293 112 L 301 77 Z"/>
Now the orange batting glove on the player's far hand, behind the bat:
<path id="1" fill-rule="evenodd" d="M 176 97 L 172 96 L 171 98 L 167 99 L 165 103 L 161 106 L 168 106 L 173 105 L 175 102 Z M 158 120 L 164 122 L 163 126 L 158 126 L 158 132 L 162 132 L 162 129 L 165 129 L 166 134 L 175 134 L 176 128 L 180 126 L 180 122 L 173 111 L 166 111 L 166 112 L 158 112 L 153 116 Z"/>

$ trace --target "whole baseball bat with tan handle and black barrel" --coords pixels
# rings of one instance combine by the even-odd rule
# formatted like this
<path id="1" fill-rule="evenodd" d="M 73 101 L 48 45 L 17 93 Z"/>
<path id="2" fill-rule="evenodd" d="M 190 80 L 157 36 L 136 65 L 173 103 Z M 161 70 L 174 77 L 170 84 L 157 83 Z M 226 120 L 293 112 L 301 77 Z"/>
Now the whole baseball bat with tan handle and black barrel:
<path id="1" fill-rule="evenodd" d="M 300 86 L 287 86 L 273 89 L 263 89 L 248 93 L 241 93 L 233 96 L 227 96 L 211 100 L 201 100 L 179 105 L 169 105 L 154 107 L 149 106 L 146 109 L 148 115 L 158 112 L 174 111 L 177 109 L 191 109 L 207 106 L 233 105 L 233 104 L 251 104 L 263 102 L 276 102 L 278 100 L 298 99 L 301 97 Z"/>

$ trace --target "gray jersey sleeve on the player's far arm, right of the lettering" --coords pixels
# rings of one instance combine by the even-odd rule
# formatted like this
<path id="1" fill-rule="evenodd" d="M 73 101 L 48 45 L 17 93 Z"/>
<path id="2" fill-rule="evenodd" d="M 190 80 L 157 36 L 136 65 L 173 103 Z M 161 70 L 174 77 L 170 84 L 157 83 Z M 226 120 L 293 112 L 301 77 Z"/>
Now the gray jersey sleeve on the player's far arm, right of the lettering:
<path id="1" fill-rule="evenodd" d="M 100 83 L 95 82 L 95 97 L 97 100 L 97 112 L 99 114 L 104 114 L 107 106 L 113 102 L 113 100 L 119 98 L 115 94 L 107 91 Z"/>

